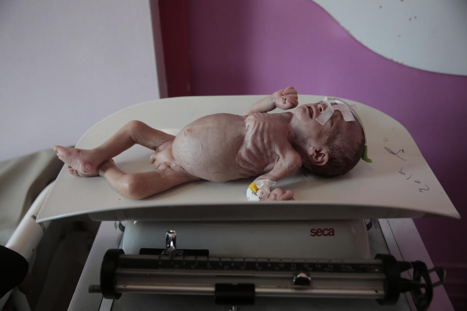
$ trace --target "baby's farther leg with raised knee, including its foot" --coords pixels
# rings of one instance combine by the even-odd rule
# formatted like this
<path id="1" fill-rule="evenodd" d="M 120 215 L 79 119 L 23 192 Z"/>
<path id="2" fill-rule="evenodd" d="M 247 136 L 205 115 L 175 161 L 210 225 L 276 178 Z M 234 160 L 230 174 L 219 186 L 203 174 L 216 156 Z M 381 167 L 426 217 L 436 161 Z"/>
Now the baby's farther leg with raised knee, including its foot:
<path id="1" fill-rule="evenodd" d="M 130 121 L 97 148 L 85 150 L 55 145 L 54 151 L 60 160 L 68 164 L 70 173 L 87 177 L 98 175 L 97 168 L 100 164 L 134 144 L 157 151 L 159 146 L 174 138 L 175 136 L 153 129 L 141 121 Z"/>

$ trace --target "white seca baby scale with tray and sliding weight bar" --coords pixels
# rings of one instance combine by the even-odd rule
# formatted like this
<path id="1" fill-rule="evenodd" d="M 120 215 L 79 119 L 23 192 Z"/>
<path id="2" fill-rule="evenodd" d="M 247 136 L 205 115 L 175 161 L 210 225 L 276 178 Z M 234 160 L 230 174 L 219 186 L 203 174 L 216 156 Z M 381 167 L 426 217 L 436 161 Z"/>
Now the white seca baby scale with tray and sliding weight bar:
<path id="1" fill-rule="evenodd" d="M 190 121 L 241 114 L 262 98 L 138 104 L 94 125 L 76 147 L 93 148 L 131 120 L 176 135 Z M 70 310 L 428 308 L 443 269 L 427 268 L 431 261 L 410 218 L 460 216 L 408 131 L 370 106 L 347 102 L 365 126 L 373 163 L 360 161 L 334 178 L 299 170 L 276 185 L 293 190 L 295 201 L 248 202 L 254 178 L 192 182 L 131 200 L 102 177 L 77 178 L 63 169 L 37 222 L 102 221 Z M 152 169 L 151 153 L 133 146 L 114 159 L 124 172 L 144 172 Z M 438 287 L 435 298 L 438 292 L 446 296 Z"/>

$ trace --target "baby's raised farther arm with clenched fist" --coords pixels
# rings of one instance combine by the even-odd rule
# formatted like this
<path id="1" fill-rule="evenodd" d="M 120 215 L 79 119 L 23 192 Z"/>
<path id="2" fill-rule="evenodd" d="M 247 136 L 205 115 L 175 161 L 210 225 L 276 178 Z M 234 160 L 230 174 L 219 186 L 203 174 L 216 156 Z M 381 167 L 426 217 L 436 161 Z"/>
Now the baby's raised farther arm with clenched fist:
<path id="1" fill-rule="evenodd" d="M 296 107 L 298 104 L 297 90 L 293 86 L 287 86 L 285 89 L 280 89 L 259 102 L 253 104 L 243 114 L 244 116 L 251 115 L 255 112 L 268 112 L 278 107 L 283 110 Z"/>

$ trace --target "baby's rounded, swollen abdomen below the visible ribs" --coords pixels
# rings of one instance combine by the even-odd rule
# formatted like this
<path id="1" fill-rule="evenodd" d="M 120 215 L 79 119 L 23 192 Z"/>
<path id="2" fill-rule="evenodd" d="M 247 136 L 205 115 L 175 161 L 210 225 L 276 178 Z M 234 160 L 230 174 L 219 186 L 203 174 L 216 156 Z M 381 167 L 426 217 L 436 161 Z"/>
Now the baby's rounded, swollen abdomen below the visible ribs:
<path id="1" fill-rule="evenodd" d="M 243 120 L 237 115 L 217 114 L 188 124 L 174 140 L 175 161 L 187 173 L 211 181 L 251 176 L 236 163 L 245 137 Z"/>

